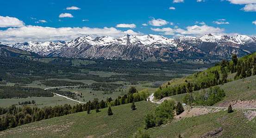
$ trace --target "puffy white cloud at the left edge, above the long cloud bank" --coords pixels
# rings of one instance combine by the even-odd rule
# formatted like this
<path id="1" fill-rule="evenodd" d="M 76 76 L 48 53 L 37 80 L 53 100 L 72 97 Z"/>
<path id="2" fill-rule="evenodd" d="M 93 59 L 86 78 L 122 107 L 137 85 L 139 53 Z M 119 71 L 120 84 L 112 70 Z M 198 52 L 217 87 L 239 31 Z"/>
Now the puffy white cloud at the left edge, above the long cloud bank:
<path id="1" fill-rule="evenodd" d="M 25 25 L 25 23 L 23 23 L 23 21 L 15 18 L 15 17 L 0 16 L 0 28 L 21 27 L 21 26 L 24 26 L 24 25 Z"/>

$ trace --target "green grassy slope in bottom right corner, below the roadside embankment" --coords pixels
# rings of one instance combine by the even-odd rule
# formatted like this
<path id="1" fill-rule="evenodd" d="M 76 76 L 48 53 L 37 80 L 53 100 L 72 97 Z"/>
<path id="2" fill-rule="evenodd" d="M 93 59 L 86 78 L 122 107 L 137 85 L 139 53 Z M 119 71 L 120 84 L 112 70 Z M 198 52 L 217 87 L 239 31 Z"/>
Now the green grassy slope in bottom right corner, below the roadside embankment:
<path id="1" fill-rule="evenodd" d="M 233 113 L 219 111 L 169 123 L 165 127 L 149 129 L 151 138 L 200 138 L 208 132 L 223 127 L 219 138 L 255 138 L 256 124 L 244 117 L 243 110 Z"/>

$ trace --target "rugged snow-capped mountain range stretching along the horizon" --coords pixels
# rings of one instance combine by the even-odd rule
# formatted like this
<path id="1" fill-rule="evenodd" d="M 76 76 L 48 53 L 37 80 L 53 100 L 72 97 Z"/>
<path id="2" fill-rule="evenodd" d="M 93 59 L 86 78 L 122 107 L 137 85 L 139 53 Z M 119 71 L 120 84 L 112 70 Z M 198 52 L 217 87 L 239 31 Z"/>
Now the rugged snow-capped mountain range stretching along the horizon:
<path id="1" fill-rule="evenodd" d="M 161 35 L 125 35 L 121 38 L 107 35 L 92 38 L 86 35 L 70 41 L 29 41 L 7 46 L 48 57 L 210 62 L 219 57 L 230 58 L 233 54 L 242 57 L 256 52 L 256 38 L 212 34 L 200 38 L 182 36 L 177 39 Z"/>

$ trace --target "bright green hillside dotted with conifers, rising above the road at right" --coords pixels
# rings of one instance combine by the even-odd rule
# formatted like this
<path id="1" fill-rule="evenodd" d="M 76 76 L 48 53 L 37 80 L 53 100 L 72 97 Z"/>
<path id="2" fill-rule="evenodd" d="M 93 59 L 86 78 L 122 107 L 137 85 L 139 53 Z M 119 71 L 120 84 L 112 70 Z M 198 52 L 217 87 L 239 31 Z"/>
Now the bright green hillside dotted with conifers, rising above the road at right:
<path id="1" fill-rule="evenodd" d="M 235 74 L 234 78 L 228 79 L 229 74 Z M 157 99 L 161 99 L 177 94 L 191 93 L 193 91 L 203 90 L 211 86 L 223 85 L 224 83 L 237 79 L 243 79 L 252 75 L 256 75 L 256 52 L 241 57 L 240 59 L 237 58 L 237 55 L 233 55 L 230 62 L 228 60 L 222 60 L 221 63 L 216 63 L 215 67 L 209 68 L 206 71 L 200 71 L 194 73 L 193 75 L 168 81 L 162 86 L 159 86 L 154 93 L 154 96 Z M 213 88 L 214 91 L 215 89 L 217 89 L 217 87 Z M 212 90 L 209 92 L 211 91 Z M 216 92 L 219 91 L 219 89 L 216 90 Z M 189 95 L 187 95 L 187 97 L 188 96 Z M 222 97 L 223 96 L 220 96 L 220 98 Z M 189 103 L 193 103 L 193 100 L 190 100 Z M 200 103 L 203 104 L 202 102 Z M 203 105 L 209 105 L 209 103 L 204 103 Z"/>

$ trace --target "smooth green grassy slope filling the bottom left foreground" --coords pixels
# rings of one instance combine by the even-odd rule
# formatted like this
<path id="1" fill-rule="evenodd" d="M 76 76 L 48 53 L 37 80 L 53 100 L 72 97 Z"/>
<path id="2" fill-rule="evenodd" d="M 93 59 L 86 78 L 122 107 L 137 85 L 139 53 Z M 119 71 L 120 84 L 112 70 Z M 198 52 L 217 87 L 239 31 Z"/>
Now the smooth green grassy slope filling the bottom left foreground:
<path id="1" fill-rule="evenodd" d="M 112 107 L 113 115 L 107 115 L 107 108 L 99 113 L 91 110 L 65 115 L 48 120 L 33 122 L 0 132 L 4 138 L 46 138 L 46 137 L 82 137 L 82 138 L 127 138 L 132 137 L 138 128 L 144 126 L 144 115 L 153 110 L 156 104 L 141 101 Z"/>

